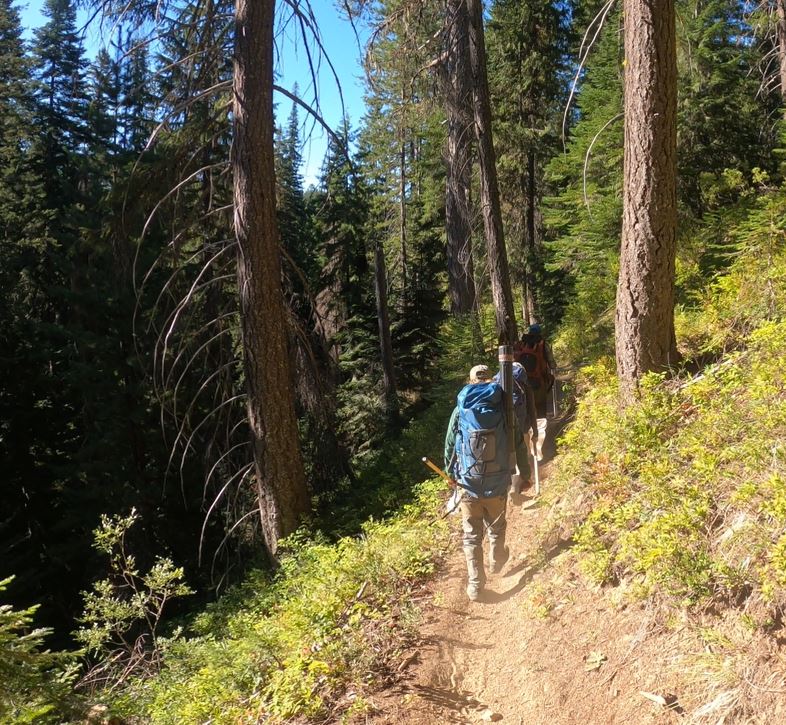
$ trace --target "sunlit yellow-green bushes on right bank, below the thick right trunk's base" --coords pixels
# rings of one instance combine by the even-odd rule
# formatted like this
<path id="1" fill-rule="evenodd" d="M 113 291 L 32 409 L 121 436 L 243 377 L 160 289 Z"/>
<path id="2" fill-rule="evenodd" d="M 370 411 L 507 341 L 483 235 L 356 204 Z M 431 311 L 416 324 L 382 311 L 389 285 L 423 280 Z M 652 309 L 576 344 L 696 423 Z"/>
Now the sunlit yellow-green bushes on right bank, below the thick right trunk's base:
<path id="1" fill-rule="evenodd" d="M 786 323 L 696 378 L 645 378 L 625 410 L 610 367 L 584 371 L 591 389 L 552 479 L 590 501 L 577 519 L 584 571 L 640 596 L 786 604 Z"/>

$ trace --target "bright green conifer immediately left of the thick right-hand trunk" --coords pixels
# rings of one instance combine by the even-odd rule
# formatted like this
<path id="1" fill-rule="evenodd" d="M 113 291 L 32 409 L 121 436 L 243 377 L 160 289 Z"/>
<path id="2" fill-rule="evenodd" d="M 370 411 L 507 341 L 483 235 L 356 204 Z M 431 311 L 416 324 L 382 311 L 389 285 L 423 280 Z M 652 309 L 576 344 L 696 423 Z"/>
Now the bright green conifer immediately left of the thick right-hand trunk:
<path id="1" fill-rule="evenodd" d="M 546 264 L 559 282 L 542 289 L 541 303 L 561 318 L 578 355 L 613 352 L 622 220 L 621 15 L 611 11 L 605 18 L 586 59 L 565 151 L 546 167 L 552 190 L 544 204 Z"/>

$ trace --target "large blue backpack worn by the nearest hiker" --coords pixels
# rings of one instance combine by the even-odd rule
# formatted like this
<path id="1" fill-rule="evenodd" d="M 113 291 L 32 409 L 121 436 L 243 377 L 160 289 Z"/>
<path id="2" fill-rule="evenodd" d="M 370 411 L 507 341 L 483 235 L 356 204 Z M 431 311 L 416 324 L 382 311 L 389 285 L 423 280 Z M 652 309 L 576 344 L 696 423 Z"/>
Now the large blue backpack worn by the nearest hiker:
<path id="1" fill-rule="evenodd" d="M 497 383 L 465 385 L 458 394 L 458 481 L 470 494 L 503 496 L 510 485 L 503 390 Z"/>

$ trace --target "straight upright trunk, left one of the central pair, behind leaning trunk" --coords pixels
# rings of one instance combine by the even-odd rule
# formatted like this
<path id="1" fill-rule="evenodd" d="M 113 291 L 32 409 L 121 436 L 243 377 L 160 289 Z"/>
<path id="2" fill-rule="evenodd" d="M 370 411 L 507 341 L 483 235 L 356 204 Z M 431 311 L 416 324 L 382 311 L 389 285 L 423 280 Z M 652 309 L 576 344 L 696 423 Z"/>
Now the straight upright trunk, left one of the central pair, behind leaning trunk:
<path id="1" fill-rule="evenodd" d="M 472 175 L 472 85 L 469 61 L 469 16 L 464 0 L 448 0 L 445 17 L 446 62 L 442 85 L 448 121 L 445 154 L 445 231 L 448 293 L 453 315 L 475 309 L 472 263 L 470 181 Z"/>

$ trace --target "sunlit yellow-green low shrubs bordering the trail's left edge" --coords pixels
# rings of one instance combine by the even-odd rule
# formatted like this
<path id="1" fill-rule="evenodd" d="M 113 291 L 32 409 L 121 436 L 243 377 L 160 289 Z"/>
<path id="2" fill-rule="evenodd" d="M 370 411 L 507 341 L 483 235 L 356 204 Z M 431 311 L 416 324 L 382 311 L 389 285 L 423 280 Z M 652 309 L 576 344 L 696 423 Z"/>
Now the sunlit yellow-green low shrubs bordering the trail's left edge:
<path id="1" fill-rule="evenodd" d="M 349 683 L 367 686 L 395 657 L 408 592 L 446 541 L 443 490 L 423 484 L 414 504 L 357 538 L 285 541 L 272 580 L 252 575 L 210 607 L 170 645 L 160 674 L 117 695 L 114 710 L 156 723 L 324 716 Z"/>

